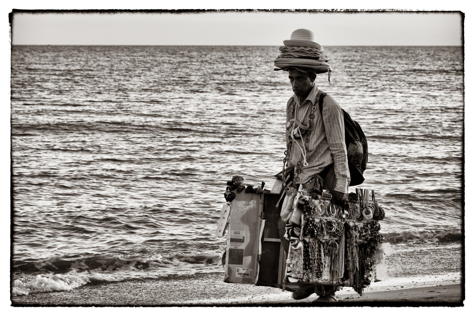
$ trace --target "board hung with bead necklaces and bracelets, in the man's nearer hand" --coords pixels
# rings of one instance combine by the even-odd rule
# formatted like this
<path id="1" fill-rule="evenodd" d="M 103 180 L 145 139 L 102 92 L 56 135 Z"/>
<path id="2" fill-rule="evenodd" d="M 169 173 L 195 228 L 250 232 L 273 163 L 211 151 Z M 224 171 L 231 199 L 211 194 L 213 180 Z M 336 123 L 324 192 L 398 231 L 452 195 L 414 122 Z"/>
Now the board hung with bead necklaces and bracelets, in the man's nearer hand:
<path id="1" fill-rule="evenodd" d="M 349 286 L 363 294 L 364 288 L 374 278 L 375 249 L 383 241 L 379 234 L 380 224 L 374 221 L 374 213 L 378 211 L 380 216 L 382 212 L 374 194 L 369 202 L 369 191 L 357 189 L 351 197 L 353 202 L 348 201 L 344 207 L 322 199 L 311 199 L 304 190 L 301 195 L 304 198 L 296 203 L 301 211 L 301 225 L 293 223 L 287 229 L 292 236 L 291 250 L 301 259 L 301 262 L 292 264 L 293 279 Z M 360 206 L 364 206 L 362 211 Z M 362 222 L 356 218 L 359 213 Z M 294 233 L 298 226 L 301 230 Z M 298 235 L 301 237 L 296 237 Z M 300 266 L 299 271 L 295 271 L 295 266 Z"/>

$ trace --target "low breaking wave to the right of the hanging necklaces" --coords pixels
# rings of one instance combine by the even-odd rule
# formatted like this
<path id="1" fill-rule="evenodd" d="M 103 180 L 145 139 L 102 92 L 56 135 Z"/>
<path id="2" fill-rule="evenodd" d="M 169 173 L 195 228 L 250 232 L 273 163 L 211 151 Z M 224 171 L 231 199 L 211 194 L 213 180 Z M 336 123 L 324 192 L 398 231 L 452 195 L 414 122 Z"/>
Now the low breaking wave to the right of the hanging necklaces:
<path id="1" fill-rule="evenodd" d="M 460 229 L 436 230 L 436 231 L 405 231 L 381 233 L 384 236 L 384 242 L 391 244 L 421 242 L 421 243 L 446 243 L 461 241 L 464 235 Z"/>

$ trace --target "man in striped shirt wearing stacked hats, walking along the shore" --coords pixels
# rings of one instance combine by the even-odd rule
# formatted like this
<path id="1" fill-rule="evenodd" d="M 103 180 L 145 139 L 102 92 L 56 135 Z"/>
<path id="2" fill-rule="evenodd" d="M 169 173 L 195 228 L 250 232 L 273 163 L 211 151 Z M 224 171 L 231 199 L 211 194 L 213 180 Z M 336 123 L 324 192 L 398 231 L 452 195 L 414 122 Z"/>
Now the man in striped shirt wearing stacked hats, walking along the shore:
<path id="1" fill-rule="evenodd" d="M 286 106 L 285 166 L 294 170 L 292 189 L 289 190 L 282 206 L 283 215 L 293 203 L 300 184 L 305 184 L 315 175 L 324 179 L 324 186 L 332 195 L 332 202 L 344 204 L 350 183 L 347 165 L 347 151 L 344 136 L 343 113 L 337 102 L 326 95 L 323 100 L 322 116 L 319 111 L 319 97 L 322 93 L 314 83 L 317 74 L 328 72 L 326 55 L 322 47 L 314 41 L 310 30 L 298 29 L 292 38 L 283 42 L 282 54 L 275 59 L 275 65 L 288 71 L 293 96 Z M 286 176 L 286 174 L 285 174 Z M 285 221 L 280 219 L 279 231 L 284 248 L 289 243 L 283 237 Z M 293 292 L 293 298 L 302 299 L 316 293 L 316 301 L 336 301 L 337 286 L 308 285 Z"/>

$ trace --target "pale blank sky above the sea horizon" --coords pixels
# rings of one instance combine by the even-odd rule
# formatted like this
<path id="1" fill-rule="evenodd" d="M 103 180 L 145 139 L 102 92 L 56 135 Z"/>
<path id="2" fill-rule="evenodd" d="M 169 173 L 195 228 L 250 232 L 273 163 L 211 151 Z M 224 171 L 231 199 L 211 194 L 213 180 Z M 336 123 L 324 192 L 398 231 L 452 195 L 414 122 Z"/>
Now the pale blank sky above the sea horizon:
<path id="1" fill-rule="evenodd" d="M 15 13 L 14 45 L 283 45 L 308 28 L 323 46 L 462 45 L 446 12 Z"/>

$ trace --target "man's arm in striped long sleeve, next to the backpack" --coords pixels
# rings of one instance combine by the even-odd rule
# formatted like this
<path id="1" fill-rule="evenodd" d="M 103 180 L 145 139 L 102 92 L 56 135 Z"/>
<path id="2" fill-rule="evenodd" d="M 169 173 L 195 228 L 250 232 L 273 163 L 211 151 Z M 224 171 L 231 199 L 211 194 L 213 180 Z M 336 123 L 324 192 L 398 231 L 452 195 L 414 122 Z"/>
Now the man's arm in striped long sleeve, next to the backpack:
<path id="1" fill-rule="evenodd" d="M 350 173 L 347 165 L 344 116 L 337 102 L 329 95 L 323 101 L 323 121 L 329 150 L 331 150 L 334 160 L 334 172 L 336 173 L 336 187 L 334 190 L 347 194 Z"/>

